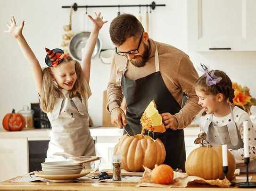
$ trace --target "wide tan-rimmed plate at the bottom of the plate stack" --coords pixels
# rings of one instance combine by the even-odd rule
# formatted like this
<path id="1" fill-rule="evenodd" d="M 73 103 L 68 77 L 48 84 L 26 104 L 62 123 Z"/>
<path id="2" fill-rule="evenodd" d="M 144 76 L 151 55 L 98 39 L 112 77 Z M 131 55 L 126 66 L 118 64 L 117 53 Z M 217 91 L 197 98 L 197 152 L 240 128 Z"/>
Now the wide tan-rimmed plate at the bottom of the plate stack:
<path id="1" fill-rule="evenodd" d="M 48 175 L 42 171 L 36 172 L 35 176 L 39 176 L 41 178 L 45 178 L 49 180 L 50 182 L 70 182 L 75 180 L 76 178 L 83 177 L 85 175 L 88 175 L 90 172 L 82 171 L 80 174 L 75 175 Z"/>

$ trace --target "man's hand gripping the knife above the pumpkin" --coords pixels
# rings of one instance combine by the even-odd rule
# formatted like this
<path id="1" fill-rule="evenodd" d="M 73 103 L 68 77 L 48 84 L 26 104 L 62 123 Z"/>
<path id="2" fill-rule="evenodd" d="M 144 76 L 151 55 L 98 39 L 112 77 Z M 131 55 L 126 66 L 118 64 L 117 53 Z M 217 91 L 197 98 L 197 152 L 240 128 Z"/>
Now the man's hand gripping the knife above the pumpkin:
<path id="1" fill-rule="evenodd" d="M 111 113 L 111 123 L 119 128 L 126 126 L 126 118 L 123 109 L 120 107 L 114 108 Z"/>

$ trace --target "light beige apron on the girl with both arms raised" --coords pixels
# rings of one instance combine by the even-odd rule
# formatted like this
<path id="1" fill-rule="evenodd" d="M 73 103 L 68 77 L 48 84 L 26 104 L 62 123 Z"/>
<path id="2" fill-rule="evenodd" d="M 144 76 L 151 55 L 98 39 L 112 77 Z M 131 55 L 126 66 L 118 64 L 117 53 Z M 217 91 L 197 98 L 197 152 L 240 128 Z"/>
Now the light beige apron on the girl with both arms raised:
<path id="1" fill-rule="evenodd" d="M 51 136 L 45 161 L 66 160 L 68 156 L 95 156 L 95 145 L 89 130 L 87 104 L 80 98 L 57 98 L 51 113 Z"/>

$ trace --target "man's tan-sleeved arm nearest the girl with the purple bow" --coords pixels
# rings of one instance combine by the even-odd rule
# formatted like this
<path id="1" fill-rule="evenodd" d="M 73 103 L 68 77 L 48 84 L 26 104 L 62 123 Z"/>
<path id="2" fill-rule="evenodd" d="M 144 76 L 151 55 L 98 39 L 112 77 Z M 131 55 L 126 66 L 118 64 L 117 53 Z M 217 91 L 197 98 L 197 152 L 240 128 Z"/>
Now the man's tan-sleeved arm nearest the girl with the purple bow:
<path id="1" fill-rule="evenodd" d="M 202 107 L 198 105 L 198 96 L 194 88 L 198 79 L 198 73 L 193 63 L 190 61 L 189 56 L 186 54 L 184 54 L 182 58 L 177 77 L 182 91 L 185 92 L 188 97 L 184 107 L 178 114 L 174 115 L 178 121 L 178 129 L 183 129 L 193 121 L 195 116 L 202 109 Z"/>

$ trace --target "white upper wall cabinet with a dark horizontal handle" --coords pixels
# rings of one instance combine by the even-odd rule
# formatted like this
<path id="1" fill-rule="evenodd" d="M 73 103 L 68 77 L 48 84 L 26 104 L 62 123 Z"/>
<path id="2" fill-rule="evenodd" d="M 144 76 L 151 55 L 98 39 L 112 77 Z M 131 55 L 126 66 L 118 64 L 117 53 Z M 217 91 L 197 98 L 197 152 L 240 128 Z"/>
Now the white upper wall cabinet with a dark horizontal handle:
<path id="1" fill-rule="evenodd" d="M 188 45 L 197 51 L 256 51 L 256 0 L 187 0 Z"/>

